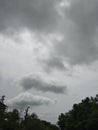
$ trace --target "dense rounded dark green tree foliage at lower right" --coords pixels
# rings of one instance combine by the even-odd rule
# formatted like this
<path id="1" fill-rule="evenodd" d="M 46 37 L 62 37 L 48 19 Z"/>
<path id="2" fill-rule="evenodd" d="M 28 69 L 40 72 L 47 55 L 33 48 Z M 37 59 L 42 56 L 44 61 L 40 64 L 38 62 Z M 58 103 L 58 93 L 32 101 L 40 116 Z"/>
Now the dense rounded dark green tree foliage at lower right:
<path id="1" fill-rule="evenodd" d="M 61 130 L 98 130 L 98 95 L 74 104 L 72 110 L 58 118 Z"/>

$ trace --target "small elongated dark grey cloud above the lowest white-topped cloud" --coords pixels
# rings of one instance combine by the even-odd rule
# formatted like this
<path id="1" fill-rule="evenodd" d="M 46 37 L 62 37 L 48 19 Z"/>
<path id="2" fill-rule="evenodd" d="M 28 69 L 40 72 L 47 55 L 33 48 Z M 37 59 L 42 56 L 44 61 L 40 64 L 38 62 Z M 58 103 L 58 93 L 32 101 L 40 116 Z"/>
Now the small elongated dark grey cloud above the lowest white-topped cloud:
<path id="1" fill-rule="evenodd" d="M 25 77 L 20 84 L 24 90 L 34 88 L 42 92 L 64 93 L 66 89 L 66 86 L 47 83 L 39 77 Z"/>

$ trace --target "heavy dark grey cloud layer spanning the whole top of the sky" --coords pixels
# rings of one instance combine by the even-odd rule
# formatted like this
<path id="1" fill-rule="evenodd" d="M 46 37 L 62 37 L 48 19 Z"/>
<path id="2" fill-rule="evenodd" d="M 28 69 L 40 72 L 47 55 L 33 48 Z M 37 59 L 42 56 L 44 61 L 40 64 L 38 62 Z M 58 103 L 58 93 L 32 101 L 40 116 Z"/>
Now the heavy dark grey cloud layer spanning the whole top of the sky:
<path id="1" fill-rule="evenodd" d="M 62 42 L 52 43 L 57 57 L 73 65 L 92 63 L 98 60 L 98 1 L 71 0 L 70 4 L 66 1 L 0 0 L 0 31 L 23 28 L 40 33 L 57 31 L 64 37 Z M 60 58 L 46 64 L 64 68 Z"/>

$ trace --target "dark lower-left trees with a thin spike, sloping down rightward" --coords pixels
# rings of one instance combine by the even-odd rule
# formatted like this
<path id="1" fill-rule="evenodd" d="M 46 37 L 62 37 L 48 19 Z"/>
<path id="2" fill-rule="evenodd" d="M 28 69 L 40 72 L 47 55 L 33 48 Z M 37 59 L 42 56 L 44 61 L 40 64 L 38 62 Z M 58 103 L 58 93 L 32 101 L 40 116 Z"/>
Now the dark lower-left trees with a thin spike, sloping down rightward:
<path id="1" fill-rule="evenodd" d="M 57 126 L 40 120 L 35 113 L 29 115 L 28 108 L 23 118 L 16 109 L 0 111 L 0 130 L 59 130 Z"/>

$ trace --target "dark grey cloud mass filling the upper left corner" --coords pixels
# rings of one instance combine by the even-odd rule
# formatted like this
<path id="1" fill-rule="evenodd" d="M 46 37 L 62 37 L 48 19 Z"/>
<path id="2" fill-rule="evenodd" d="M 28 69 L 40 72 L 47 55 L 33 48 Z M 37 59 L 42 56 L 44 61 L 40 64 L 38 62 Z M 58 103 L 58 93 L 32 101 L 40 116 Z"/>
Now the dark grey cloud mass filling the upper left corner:
<path id="1" fill-rule="evenodd" d="M 0 31 L 53 31 L 58 25 L 56 4 L 57 0 L 0 0 Z"/>

